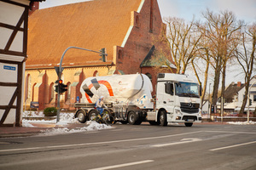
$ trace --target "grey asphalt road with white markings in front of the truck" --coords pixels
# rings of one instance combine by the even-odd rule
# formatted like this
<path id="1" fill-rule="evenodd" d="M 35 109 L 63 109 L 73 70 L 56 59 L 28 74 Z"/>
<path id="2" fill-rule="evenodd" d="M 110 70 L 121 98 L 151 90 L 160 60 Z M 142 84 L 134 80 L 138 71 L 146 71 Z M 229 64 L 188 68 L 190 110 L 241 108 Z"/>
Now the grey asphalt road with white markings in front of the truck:
<path id="1" fill-rule="evenodd" d="M 113 125 L 0 139 L 0 169 L 256 169 L 256 126 Z"/>

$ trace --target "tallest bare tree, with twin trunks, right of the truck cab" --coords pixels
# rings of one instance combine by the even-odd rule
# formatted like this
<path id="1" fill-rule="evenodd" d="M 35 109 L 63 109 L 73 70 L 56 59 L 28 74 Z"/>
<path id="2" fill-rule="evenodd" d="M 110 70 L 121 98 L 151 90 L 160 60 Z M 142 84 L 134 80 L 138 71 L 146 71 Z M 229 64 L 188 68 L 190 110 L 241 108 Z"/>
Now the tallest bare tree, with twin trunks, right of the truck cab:
<path id="1" fill-rule="evenodd" d="M 222 96 L 224 95 L 225 88 L 225 74 L 227 61 L 234 56 L 233 52 L 235 47 L 231 46 L 234 40 L 233 36 L 241 28 L 241 24 L 236 23 L 236 17 L 232 12 L 221 12 L 220 14 L 213 14 L 212 11 L 207 9 L 203 13 L 204 18 L 207 20 L 206 25 L 201 27 L 205 29 L 205 36 L 209 44 L 208 50 L 212 57 L 212 68 L 215 71 L 212 93 L 212 105 L 216 105 L 218 99 L 218 86 L 220 81 L 220 74 L 222 71 Z"/>

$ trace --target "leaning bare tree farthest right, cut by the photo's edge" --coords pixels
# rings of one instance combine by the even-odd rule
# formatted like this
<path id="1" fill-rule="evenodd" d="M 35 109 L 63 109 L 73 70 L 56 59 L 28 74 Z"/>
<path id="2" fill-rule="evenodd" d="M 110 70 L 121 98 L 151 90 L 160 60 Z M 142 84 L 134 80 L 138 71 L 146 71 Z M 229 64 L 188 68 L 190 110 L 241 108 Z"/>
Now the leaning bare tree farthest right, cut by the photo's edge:
<path id="1" fill-rule="evenodd" d="M 255 62 L 256 53 L 256 23 L 253 26 L 247 26 L 244 32 L 241 32 L 241 43 L 236 48 L 236 59 L 241 65 L 242 70 L 245 73 L 245 97 L 242 101 L 241 110 L 242 113 L 247 105 L 247 94 L 250 85 L 250 80 L 253 74 L 253 62 Z"/>

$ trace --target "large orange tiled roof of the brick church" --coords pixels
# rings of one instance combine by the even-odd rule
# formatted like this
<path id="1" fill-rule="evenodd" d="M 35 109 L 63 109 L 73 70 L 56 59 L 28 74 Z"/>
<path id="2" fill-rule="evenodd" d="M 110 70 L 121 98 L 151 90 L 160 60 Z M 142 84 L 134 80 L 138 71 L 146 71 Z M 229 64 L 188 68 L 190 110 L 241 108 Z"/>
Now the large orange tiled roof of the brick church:
<path id="1" fill-rule="evenodd" d="M 106 48 L 113 62 L 113 46 L 121 46 L 131 26 L 131 11 L 142 0 L 95 0 L 36 10 L 28 23 L 26 68 L 48 68 L 60 63 L 70 46 L 99 51 Z M 101 56 L 69 49 L 62 66 L 102 65 Z"/>

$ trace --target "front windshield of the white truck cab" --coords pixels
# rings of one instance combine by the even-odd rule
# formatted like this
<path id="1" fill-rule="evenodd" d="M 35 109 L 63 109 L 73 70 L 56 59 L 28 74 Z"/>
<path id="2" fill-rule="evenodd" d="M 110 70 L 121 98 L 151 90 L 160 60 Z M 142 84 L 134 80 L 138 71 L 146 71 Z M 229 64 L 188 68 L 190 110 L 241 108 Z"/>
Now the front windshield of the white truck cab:
<path id="1" fill-rule="evenodd" d="M 200 98 L 199 86 L 192 82 L 175 82 L 175 94 L 180 97 Z"/>

